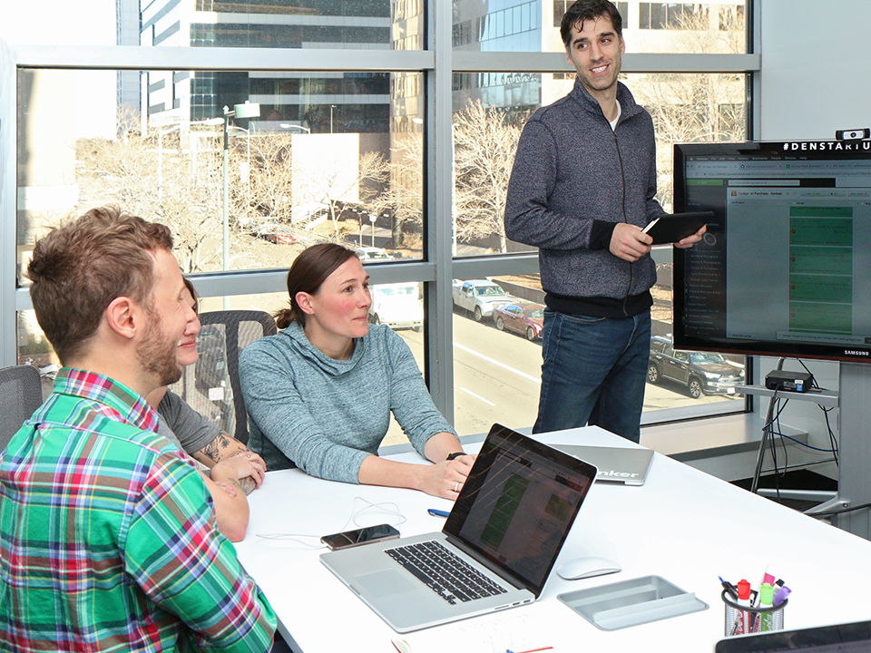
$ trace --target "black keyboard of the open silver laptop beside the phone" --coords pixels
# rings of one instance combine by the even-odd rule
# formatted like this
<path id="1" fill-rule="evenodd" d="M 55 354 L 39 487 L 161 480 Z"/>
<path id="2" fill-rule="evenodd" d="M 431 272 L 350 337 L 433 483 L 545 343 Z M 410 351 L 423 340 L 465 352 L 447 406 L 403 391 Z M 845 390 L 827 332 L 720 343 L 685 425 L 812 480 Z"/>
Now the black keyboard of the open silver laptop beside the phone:
<path id="1" fill-rule="evenodd" d="M 457 599 L 463 602 L 484 599 L 506 591 L 436 541 L 384 552 L 452 605 Z"/>

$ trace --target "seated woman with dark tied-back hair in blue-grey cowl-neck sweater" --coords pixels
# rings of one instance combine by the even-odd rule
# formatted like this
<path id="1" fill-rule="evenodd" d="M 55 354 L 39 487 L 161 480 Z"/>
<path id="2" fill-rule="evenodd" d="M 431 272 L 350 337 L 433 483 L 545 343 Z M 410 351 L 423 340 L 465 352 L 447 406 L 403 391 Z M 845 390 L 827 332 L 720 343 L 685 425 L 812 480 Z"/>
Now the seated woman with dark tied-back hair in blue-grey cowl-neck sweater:
<path id="1" fill-rule="evenodd" d="M 368 324 L 369 277 L 357 255 L 324 243 L 288 273 L 282 329 L 240 356 L 249 446 L 270 470 L 297 465 L 333 481 L 414 488 L 455 499 L 475 460 L 439 414 L 405 341 Z M 435 464 L 377 456 L 390 413 Z"/>

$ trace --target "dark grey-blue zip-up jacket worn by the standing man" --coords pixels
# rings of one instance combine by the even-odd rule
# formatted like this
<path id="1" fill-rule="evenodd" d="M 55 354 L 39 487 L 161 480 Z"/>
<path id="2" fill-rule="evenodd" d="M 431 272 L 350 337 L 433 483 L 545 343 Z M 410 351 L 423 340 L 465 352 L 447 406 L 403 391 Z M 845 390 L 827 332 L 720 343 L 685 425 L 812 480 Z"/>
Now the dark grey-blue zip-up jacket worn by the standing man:
<path id="1" fill-rule="evenodd" d="M 608 249 L 616 222 L 645 227 L 661 215 L 651 115 L 618 83 L 617 128 L 582 83 L 539 109 L 517 144 L 505 235 L 539 248 L 542 286 L 564 297 L 622 299 L 656 280 L 650 255 L 635 263 Z"/>

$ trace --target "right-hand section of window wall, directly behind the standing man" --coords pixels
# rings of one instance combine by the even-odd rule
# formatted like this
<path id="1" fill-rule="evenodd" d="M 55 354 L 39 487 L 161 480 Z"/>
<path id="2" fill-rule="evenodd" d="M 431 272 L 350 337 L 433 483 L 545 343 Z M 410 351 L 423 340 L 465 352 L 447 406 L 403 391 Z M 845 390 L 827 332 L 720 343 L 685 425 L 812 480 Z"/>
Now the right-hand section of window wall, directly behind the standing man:
<path id="1" fill-rule="evenodd" d="M 452 82 L 455 253 L 470 258 L 470 265 L 483 259 L 474 268 L 480 270 L 475 278 L 458 278 L 454 283 L 455 418 L 471 430 L 484 430 L 500 417 L 532 424 L 537 412 L 544 297 L 540 279 L 521 270 L 497 275 L 488 271 L 488 265 L 494 257 L 532 249 L 505 238 L 504 189 L 524 122 L 573 87 L 573 67 L 565 62 L 559 34 L 563 13 L 571 4 L 571 0 L 454 3 L 453 44 L 455 52 L 462 53 L 455 54 Z M 749 74 L 738 65 L 748 53 L 748 7 L 743 1 L 620 2 L 617 6 L 627 53 L 621 81 L 653 117 L 657 198 L 668 211 L 672 143 L 748 137 Z M 497 63 L 504 55 L 491 53 L 503 51 L 529 53 L 524 63 L 538 61 L 540 66 L 511 68 L 512 63 L 520 63 L 517 59 Z M 548 53 L 555 55 L 553 59 L 548 59 Z M 718 54 L 734 59 L 735 69 L 680 70 Z M 680 67 L 657 70 L 657 65 L 645 71 L 645 63 L 659 64 L 663 55 Z M 743 383 L 743 357 L 671 348 L 670 248 L 658 248 L 654 256 L 659 274 L 652 289 L 653 338 L 643 421 L 743 410 L 744 397 L 734 389 Z M 494 299 L 487 305 L 493 306 L 492 312 L 482 314 L 465 297 L 472 292 L 465 288 L 484 282 L 497 286 L 504 297 Z"/>

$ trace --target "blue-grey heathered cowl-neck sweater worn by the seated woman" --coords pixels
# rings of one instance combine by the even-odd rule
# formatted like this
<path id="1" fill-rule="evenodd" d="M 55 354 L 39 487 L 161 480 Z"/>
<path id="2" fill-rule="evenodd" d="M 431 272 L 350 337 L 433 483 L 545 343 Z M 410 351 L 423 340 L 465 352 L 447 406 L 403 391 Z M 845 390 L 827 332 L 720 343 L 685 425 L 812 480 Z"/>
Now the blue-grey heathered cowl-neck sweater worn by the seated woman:
<path id="1" fill-rule="evenodd" d="M 391 411 L 416 450 L 451 425 L 435 408 L 415 357 L 384 325 L 355 338 L 348 360 L 325 356 L 293 322 L 245 347 L 239 376 L 249 446 L 268 470 L 296 463 L 312 476 L 357 482 L 387 434 Z"/>

